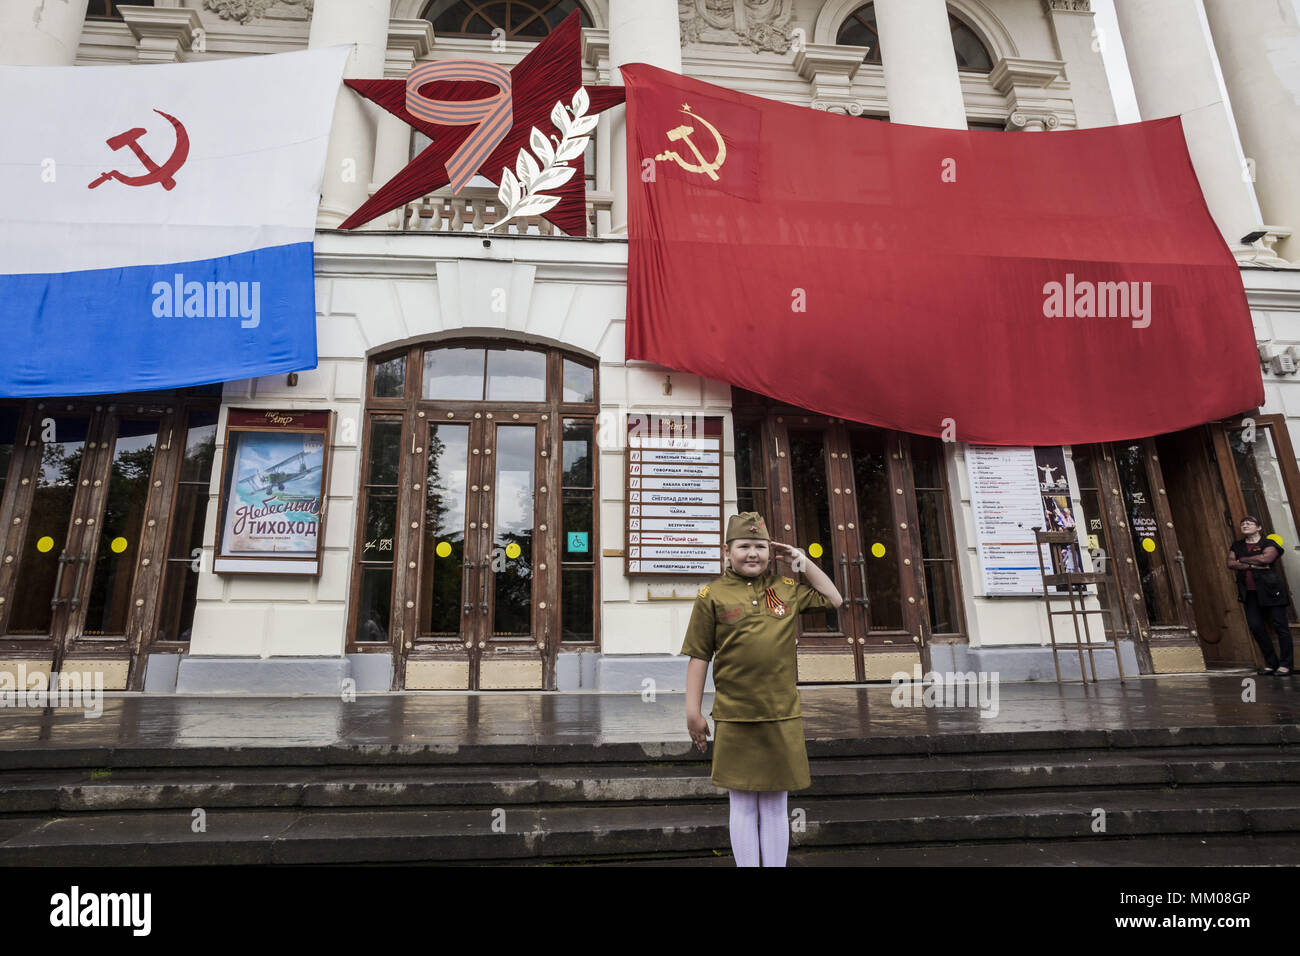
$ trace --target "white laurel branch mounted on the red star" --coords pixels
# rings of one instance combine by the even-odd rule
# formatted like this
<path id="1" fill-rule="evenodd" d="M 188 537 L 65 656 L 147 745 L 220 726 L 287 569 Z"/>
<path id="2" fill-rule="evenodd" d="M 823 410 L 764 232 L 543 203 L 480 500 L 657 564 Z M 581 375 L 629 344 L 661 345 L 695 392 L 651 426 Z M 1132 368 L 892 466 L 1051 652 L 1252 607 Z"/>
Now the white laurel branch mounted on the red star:
<path id="1" fill-rule="evenodd" d="M 533 159 L 528 150 L 520 150 L 515 160 L 515 172 L 506 166 L 500 169 L 500 189 L 497 196 L 506 206 L 506 215 L 480 232 L 490 233 L 497 226 L 504 225 L 512 219 L 523 216 L 538 216 L 549 212 L 559 200 L 559 196 L 546 195 L 546 190 L 563 186 L 577 172 L 568 160 L 577 159 L 586 150 L 589 135 L 601 117 L 586 116 L 590 100 L 586 90 L 581 86 L 573 94 L 573 103 L 566 107 L 562 100 L 556 100 L 555 109 L 551 111 L 551 122 L 564 135 L 547 139 L 546 135 L 533 126 L 529 144 L 537 159 Z M 572 113 L 572 116 L 571 116 Z M 554 143 L 551 142 L 554 140 Z M 541 160 L 541 161 L 538 161 Z"/>

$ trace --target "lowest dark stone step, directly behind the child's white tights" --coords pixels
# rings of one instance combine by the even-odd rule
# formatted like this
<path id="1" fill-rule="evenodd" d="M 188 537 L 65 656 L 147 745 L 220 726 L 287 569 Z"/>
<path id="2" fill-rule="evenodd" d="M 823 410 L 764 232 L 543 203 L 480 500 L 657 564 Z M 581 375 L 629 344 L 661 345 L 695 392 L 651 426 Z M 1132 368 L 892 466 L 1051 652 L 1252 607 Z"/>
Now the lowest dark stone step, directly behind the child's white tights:
<path id="1" fill-rule="evenodd" d="M 800 797 L 800 799 L 794 799 Z M 1106 812 L 1104 834 L 1091 830 Z M 792 847 L 878 851 L 918 843 L 1300 834 L 1300 787 L 950 793 L 876 799 L 793 795 Z M 729 847 L 724 803 L 464 809 L 83 812 L 0 818 L 0 865 L 517 862 L 685 853 Z M 494 829 L 494 822 L 498 829 Z M 499 831 L 498 831 L 499 830 Z"/>

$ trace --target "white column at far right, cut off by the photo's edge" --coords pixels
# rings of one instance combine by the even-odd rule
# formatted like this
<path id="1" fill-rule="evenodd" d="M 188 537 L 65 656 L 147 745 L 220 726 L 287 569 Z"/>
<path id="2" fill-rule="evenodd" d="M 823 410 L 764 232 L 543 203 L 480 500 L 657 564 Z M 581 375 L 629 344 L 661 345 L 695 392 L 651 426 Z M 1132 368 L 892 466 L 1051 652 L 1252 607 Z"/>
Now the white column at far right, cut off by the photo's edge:
<path id="1" fill-rule="evenodd" d="M 1300 10 L 1273 0 L 1208 0 L 1205 14 L 1262 219 L 1300 229 Z M 1300 260 L 1300 237 L 1277 250 Z"/>

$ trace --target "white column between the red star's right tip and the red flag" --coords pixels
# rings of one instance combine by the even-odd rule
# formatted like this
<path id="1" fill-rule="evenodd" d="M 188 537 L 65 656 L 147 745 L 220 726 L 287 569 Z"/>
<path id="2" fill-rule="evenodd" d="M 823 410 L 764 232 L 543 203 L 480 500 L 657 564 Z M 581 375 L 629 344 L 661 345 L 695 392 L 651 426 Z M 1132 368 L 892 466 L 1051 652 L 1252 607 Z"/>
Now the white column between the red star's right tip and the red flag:
<path id="1" fill-rule="evenodd" d="M 681 29 L 676 0 L 610 0 L 610 65 L 644 62 L 681 73 Z M 618 69 L 610 81 L 623 83 Z M 610 121 L 610 164 L 614 186 L 614 233 L 628 232 L 627 107 L 615 107 Z"/>

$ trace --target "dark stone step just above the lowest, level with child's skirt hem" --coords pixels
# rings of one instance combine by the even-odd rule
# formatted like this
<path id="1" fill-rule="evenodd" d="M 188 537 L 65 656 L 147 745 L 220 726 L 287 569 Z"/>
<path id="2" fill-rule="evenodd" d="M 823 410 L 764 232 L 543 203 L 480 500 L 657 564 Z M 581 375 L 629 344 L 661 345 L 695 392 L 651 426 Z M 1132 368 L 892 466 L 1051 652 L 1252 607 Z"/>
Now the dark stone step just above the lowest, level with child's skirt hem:
<path id="1" fill-rule="evenodd" d="M 1300 747 L 814 760 L 807 796 L 1300 783 Z M 707 761 L 555 766 L 0 771 L 0 814 L 291 806 L 472 808 L 724 800 Z M 803 793 L 794 796 L 802 797 Z"/>

